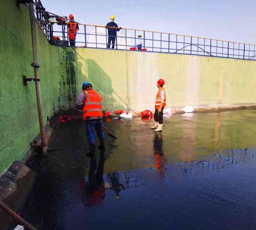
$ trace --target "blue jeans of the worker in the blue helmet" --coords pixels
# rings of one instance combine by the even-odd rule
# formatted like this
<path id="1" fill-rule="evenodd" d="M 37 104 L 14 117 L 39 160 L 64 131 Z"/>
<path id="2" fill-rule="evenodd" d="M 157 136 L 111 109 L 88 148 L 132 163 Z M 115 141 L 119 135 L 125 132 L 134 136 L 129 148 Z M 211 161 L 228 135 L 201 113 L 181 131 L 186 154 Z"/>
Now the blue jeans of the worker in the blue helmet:
<path id="1" fill-rule="evenodd" d="M 104 139 L 102 129 L 102 119 L 93 119 L 86 121 L 86 135 L 89 145 L 95 145 L 94 128 L 100 140 Z"/>

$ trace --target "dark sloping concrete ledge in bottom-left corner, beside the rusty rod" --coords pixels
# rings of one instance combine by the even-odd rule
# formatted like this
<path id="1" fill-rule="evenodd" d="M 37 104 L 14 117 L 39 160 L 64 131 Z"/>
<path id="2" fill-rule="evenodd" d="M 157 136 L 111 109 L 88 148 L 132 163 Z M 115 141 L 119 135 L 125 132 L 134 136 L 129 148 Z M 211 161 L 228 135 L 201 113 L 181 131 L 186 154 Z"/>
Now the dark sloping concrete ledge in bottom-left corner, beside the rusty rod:
<path id="1" fill-rule="evenodd" d="M 37 173 L 15 161 L 0 177 L 0 200 L 13 211 L 18 212 L 27 201 Z M 15 221 L 0 209 L 0 230 L 5 230 Z"/>

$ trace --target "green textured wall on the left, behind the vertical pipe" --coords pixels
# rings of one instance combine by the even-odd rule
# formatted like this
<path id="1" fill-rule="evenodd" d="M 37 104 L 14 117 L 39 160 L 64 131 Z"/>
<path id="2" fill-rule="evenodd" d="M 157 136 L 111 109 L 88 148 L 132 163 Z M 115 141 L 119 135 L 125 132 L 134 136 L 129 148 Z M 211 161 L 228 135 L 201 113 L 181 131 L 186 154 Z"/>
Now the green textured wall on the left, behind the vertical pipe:
<path id="1" fill-rule="evenodd" d="M 25 5 L 0 0 L 0 173 L 29 150 L 39 133 L 34 82 L 23 86 L 23 75 L 33 78 L 29 11 Z M 48 43 L 37 28 L 43 113 L 46 124 L 59 109 L 71 107 L 76 94 L 75 55 Z"/>

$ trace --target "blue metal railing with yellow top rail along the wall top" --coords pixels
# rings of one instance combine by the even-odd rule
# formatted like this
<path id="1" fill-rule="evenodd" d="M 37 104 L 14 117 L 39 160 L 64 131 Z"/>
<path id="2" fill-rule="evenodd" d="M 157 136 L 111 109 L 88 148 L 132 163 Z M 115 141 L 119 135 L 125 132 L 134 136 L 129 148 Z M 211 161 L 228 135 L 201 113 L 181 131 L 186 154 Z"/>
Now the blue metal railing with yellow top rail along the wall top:
<path id="1" fill-rule="evenodd" d="M 41 4 L 40 0 L 36 2 Z M 57 25 L 59 22 L 49 20 L 50 13 L 42 10 L 40 4 L 35 7 L 35 15 L 50 43 L 69 46 L 67 23 L 70 20 L 65 18 L 66 23 Z M 116 36 L 109 36 L 108 29 L 111 27 L 80 23 L 78 25 L 79 31 L 76 34 L 75 44 L 80 47 L 107 49 L 109 37 L 114 37 L 114 48 L 119 50 L 256 60 L 254 44 L 128 28 L 122 28 Z M 138 34 L 141 34 L 142 38 L 138 38 Z M 56 37 L 59 40 L 56 40 Z M 141 50 L 138 50 L 138 44 L 142 45 Z"/>

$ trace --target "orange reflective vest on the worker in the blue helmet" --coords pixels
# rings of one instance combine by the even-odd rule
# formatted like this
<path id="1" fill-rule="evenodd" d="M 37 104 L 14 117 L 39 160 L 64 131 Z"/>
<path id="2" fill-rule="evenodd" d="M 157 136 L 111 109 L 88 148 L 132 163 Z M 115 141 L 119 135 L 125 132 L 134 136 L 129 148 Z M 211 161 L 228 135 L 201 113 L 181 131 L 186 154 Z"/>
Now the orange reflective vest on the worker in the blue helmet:
<path id="1" fill-rule="evenodd" d="M 103 117 L 101 95 L 94 90 L 86 90 L 84 94 L 83 120 L 86 120 L 87 117 Z"/>

